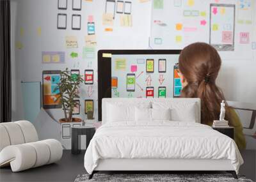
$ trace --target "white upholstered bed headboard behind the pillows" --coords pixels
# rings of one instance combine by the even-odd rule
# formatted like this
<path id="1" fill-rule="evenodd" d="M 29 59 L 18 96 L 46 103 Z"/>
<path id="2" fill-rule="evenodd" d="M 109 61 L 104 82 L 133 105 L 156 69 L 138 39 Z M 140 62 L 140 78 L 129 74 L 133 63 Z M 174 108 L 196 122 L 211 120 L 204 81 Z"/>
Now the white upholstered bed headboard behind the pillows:
<path id="1" fill-rule="evenodd" d="M 107 105 L 108 103 L 125 103 L 125 105 L 138 105 L 140 102 L 182 102 L 182 103 L 195 103 L 196 105 L 196 123 L 201 123 L 201 107 L 200 98 L 102 98 L 102 125 L 106 123 Z"/>

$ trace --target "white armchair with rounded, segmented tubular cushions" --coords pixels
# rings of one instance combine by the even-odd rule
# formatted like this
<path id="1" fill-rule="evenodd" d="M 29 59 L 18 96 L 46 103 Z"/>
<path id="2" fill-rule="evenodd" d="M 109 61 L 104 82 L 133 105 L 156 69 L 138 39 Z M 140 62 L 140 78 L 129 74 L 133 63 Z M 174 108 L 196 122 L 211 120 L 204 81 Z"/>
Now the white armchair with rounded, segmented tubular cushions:
<path id="1" fill-rule="evenodd" d="M 38 141 L 35 127 L 29 121 L 0 123 L 0 167 L 11 165 L 13 172 L 54 163 L 61 159 L 58 140 Z"/>

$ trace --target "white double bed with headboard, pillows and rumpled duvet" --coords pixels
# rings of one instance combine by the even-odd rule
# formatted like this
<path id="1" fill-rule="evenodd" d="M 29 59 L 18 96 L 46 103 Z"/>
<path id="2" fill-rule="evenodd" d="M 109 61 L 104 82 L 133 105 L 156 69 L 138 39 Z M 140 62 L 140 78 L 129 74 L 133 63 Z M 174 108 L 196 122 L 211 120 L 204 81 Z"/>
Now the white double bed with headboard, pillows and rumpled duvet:
<path id="1" fill-rule="evenodd" d="M 131 106 L 139 111 L 168 107 L 169 120 L 174 121 L 161 116 L 143 120 L 147 113 L 134 119 L 139 111 L 134 113 Z M 124 107 L 127 110 L 122 113 Z M 200 124 L 197 98 L 104 98 L 102 126 L 84 155 L 90 178 L 97 171 L 230 171 L 237 178 L 241 164 L 243 158 L 234 140 Z"/>

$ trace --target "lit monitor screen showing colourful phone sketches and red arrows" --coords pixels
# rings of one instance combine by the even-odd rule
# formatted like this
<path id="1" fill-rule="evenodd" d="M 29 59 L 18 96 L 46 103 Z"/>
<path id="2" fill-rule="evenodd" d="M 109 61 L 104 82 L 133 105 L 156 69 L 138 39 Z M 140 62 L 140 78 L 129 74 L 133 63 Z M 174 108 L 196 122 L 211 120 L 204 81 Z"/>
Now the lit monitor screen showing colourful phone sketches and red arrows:
<path id="1" fill-rule="evenodd" d="M 111 97 L 172 98 L 179 96 L 179 54 L 114 54 L 111 57 Z"/>

